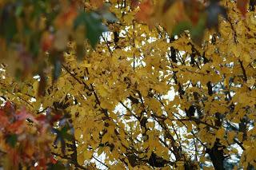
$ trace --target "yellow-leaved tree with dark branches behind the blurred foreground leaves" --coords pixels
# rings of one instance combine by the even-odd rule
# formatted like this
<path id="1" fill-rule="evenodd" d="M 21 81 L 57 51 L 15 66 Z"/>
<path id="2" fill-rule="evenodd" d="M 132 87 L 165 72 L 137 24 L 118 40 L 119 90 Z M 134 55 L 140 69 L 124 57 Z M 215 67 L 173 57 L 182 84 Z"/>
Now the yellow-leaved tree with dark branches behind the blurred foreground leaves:
<path id="1" fill-rule="evenodd" d="M 95 49 L 85 43 L 82 61 L 70 42 L 58 81 L 47 75 L 44 97 L 36 96 L 37 79 L 17 82 L 3 69 L 1 95 L 34 113 L 67 105 L 54 110 L 70 113 L 84 167 L 216 168 L 234 156 L 241 157 L 235 168 L 256 167 L 255 11 L 242 16 L 222 1 L 228 18 L 198 45 L 187 31 L 168 34 L 179 2 L 154 26 L 138 22 L 130 2 L 110 0 L 118 22 L 107 23 Z"/>

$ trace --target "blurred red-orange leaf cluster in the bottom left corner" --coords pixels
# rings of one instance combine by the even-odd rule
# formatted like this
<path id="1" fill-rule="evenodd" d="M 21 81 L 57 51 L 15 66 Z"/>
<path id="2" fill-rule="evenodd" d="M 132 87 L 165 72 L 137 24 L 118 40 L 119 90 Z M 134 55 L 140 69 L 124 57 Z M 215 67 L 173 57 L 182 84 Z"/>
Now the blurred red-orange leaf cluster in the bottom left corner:
<path id="1" fill-rule="evenodd" d="M 34 117 L 26 109 L 17 110 L 9 101 L 0 109 L 1 157 L 3 166 L 38 166 L 55 161 L 50 155 L 50 125 L 45 118 Z"/>

